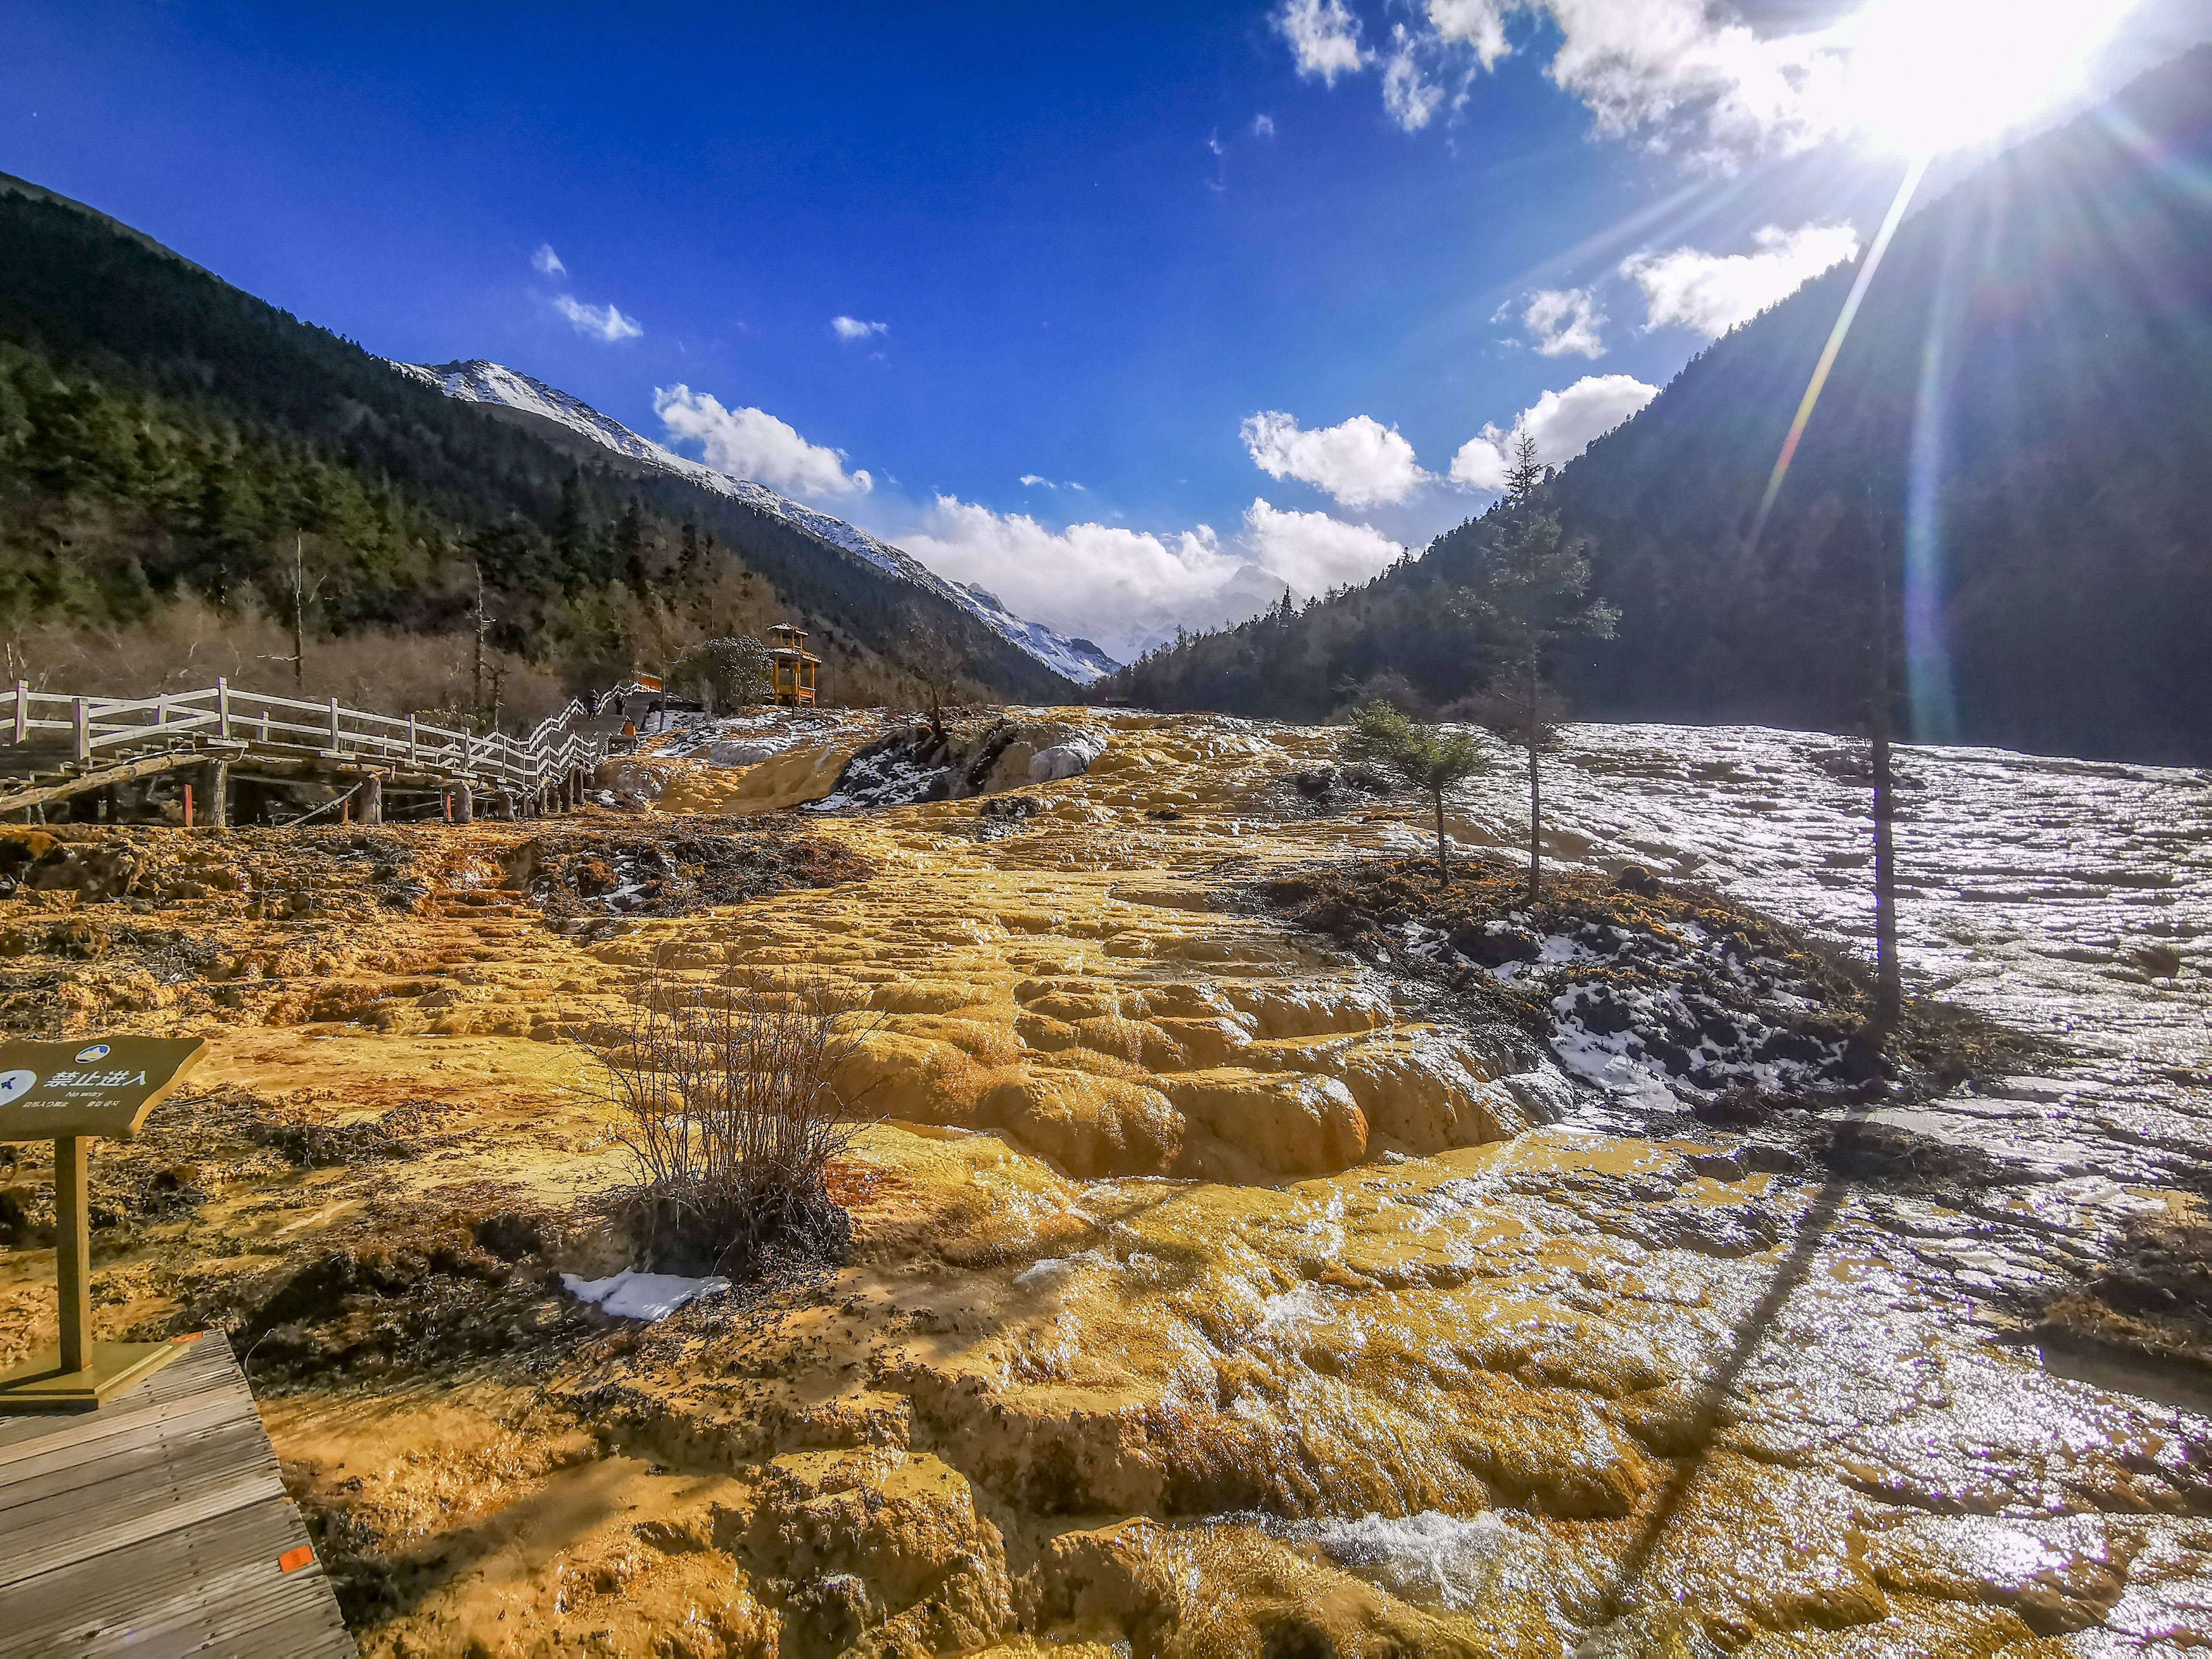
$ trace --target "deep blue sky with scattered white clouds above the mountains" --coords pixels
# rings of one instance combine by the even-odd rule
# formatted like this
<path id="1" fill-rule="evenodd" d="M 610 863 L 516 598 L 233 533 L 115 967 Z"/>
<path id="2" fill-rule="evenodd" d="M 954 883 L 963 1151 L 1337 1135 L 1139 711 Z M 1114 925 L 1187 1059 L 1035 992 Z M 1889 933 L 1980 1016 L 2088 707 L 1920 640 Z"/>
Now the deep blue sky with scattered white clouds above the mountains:
<path id="1" fill-rule="evenodd" d="M 1482 511 L 1486 427 L 1564 460 L 1871 234 L 1907 113 L 1955 168 L 2212 33 L 2011 0 L 2057 60 L 1980 73 L 2033 31 L 1955 4 L 15 0 L 0 170 L 1126 653 Z M 1860 13 L 1964 97 L 1829 97 Z"/>

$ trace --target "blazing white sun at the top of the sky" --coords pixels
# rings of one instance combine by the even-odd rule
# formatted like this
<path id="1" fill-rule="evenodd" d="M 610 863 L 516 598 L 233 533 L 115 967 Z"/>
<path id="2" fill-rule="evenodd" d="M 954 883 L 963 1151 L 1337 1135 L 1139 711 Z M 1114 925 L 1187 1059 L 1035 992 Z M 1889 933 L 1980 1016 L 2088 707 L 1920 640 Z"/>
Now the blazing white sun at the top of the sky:
<path id="1" fill-rule="evenodd" d="M 1882 148 L 1995 137 L 2081 86 L 2137 0 L 1869 0 L 1836 29 L 1845 113 Z"/>

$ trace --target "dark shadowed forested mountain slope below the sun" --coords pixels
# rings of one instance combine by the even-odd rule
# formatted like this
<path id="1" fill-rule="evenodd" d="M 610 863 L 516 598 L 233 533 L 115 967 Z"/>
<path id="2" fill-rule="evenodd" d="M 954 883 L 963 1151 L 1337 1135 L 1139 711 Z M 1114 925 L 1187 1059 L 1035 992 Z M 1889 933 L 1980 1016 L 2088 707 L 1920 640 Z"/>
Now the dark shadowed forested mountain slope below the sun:
<path id="1" fill-rule="evenodd" d="M 1544 491 L 1621 611 L 1562 681 L 1610 719 L 1847 728 L 1876 551 L 1922 739 L 2212 761 L 2212 49 L 1911 215 L 1772 518 L 1754 515 L 1856 268 L 1717 341 Z M 1493 529 L 1102 690 L 1321 714 L 1402 672 L 1467 692 L 1442 595 Z"/>

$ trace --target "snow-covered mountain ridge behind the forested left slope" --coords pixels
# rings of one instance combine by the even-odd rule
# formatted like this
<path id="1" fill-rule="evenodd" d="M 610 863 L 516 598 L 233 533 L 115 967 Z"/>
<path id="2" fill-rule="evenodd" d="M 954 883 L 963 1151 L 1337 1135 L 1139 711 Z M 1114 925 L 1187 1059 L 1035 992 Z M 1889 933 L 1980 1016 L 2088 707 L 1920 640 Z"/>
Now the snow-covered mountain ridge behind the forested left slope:
<path id="1" fill-rule="evenodd" d="M 500 409 L 509 418 L 518 420 L 518 425 L 540 431 L 540 436 L 553 436 L 544 431 L 546 425 L 560 427 L 566 434 L 586 438 L 599 449 L 608 449 L 630 462 L 688 478 L 703 489 L 712 489 L 717 495 L 732 495 L 754 511 L 772 513 L 810 535 L 818 535 L 832 546 L 841 546 L 847 553 L 867 560 L 887 575 L 911 582 L 918 588 L 927 588 L 929 593 L 949 599 L 978 617 L 1002 639 L 1029 653 L 1053 672 L 1073 679 L 1077 686 L 1088 686 L 1091 681 L 1119 668 L 1113 657 L 1088 639 L 1071 639 L 1057 628 L 1046 628 L 1042 622 L 1026 622 L 1006 611 L 995 595 L 960 582 L 947 582 L 905 549 L 880 542 L 841 518 L 832 518 L 814 507 L 779 495 L 750 478 L 732 478 L 730 473 L 714 471 L 706 462 L 679 456 L 675 449 L 630 431 L 613 416 L 599 414 L 582 398 L 571 398 L 560 387 L 551 387 L 531 374 L 502 367 L 500 363 L 487 363 L 482 358 L 436 365 L 394 363 L 392 367 L 414 380 L 420 380 L 422 385 L 436 387 L 449 398 L 482 403 Z"/>

